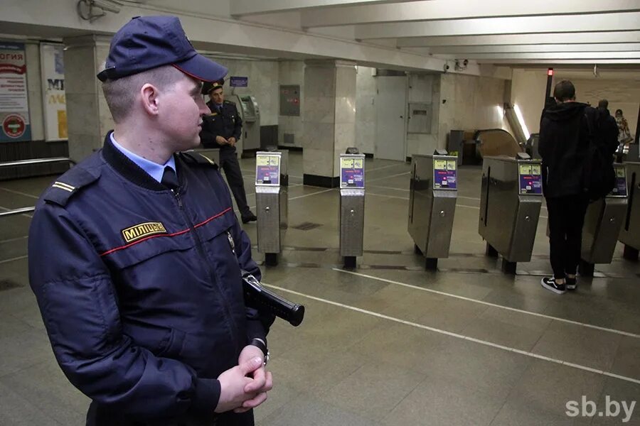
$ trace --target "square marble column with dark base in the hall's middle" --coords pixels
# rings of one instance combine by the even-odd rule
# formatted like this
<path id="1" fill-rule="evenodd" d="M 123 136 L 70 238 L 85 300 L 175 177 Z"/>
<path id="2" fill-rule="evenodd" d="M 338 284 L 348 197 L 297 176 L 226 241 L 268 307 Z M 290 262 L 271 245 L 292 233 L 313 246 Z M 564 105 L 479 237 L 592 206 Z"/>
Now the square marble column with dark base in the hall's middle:
<path id="1" fill-rule="evenodd" d="M 356 146 L 356 65 L 341 60 L 304 63 L 304 185 L 338 187 L 338 155 Z"/>

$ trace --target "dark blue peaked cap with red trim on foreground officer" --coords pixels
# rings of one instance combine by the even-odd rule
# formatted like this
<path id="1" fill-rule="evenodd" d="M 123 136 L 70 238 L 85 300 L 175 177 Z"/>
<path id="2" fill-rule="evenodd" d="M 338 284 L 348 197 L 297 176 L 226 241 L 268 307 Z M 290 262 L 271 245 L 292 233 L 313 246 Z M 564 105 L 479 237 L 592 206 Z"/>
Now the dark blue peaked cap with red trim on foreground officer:
<path id="1" fill-rule="evenodd" d="M 173 65 L 203 82 L 220 80 L 227 68 L 196 52 L 175 16 L 137 16 L 111 40 L 101 82 L 117 80 L 162 65 Z"/>

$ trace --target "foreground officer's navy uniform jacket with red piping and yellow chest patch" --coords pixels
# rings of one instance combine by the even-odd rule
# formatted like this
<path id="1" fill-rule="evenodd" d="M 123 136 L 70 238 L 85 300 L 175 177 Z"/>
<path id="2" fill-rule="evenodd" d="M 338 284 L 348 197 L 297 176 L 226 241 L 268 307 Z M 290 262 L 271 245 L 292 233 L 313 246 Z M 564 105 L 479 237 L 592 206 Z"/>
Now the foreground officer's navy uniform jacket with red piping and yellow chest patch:
<path id="1" fill-rule="evenodd" d="M 117 148 L 44 192 L 29 234 L 29 279 L 55 357 L 113 413 L 213 413 L 216 378 L 273 321 L 245 307 L 240 266 L 260 275 L 218 168 L 176 155 L 174 195 Z"/>

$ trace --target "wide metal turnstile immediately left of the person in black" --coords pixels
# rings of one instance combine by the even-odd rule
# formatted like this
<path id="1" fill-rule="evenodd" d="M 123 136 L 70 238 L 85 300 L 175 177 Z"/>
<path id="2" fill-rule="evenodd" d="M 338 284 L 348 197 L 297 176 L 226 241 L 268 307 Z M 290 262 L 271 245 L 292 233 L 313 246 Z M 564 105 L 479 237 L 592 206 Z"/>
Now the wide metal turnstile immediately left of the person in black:
<path id="1" fill-rule="evenodd" d="M 486 254 L 502 255 L 503 272 L 531 260 L 542 198 L 540 160 L 527 153 L 484 158 L 478 228 Z"/>

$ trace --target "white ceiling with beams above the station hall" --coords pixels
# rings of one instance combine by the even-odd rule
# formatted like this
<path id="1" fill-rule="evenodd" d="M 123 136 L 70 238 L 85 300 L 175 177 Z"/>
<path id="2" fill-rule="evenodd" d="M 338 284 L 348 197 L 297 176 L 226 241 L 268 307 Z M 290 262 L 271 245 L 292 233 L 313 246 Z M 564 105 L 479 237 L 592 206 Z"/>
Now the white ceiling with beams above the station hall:
<path id="1" fill-rule="evenodd" d="M 239 59 L 472 74 L 555 67 L 640 81 L 640 0 L 101 0 L 122 12 L 95 23 L 76 16 L 77 0 L 2 1 L 9 38 L 110 35 L 130 16 L 172 13 L 196 48 Z"/>

